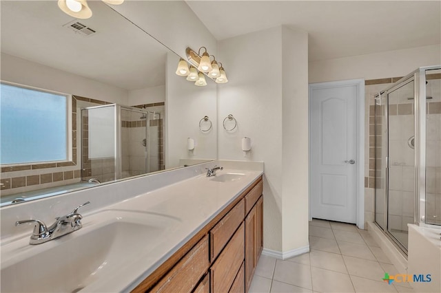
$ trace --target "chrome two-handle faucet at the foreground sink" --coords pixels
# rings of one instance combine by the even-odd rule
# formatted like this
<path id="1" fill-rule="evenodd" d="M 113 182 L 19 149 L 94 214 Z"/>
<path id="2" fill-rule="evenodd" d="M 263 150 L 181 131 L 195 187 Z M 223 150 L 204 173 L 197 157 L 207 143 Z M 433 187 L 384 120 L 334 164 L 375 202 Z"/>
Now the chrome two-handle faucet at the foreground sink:
<path id="1" fill-rule="evenodd" d="M 15 226 L 25 223 L 35 223 L 34 231 L 32 232 L 29 243 L 32 245 L 45 243 L 81 229 L 83 226 L 81 224 L 81 219 L 83 219 L 83 216 L 77 213 L 77 211 L 82 206 L 86 206 L 88 204 L 90 204 L 90 202 L 85 202 L 84 204 L 81 204 L 81 206 L 77 206 L 72 213 L 62 217 L 57 217 L 57 221 L 55 221 L 54 224 L 49 227 L 47 227 L 43 221 L 37 219 L 16 221 Z"/>

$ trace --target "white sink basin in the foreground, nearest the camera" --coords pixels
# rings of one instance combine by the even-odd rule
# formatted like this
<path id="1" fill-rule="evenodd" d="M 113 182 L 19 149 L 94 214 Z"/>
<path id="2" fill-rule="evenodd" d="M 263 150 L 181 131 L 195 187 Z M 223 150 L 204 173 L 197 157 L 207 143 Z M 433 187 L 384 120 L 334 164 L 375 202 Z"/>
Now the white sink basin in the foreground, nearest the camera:
<path id="1" fill-rule="evenodd" d="M 83 228 L 69 235 L 14 248 L 19 255 L 6 261 L 2 248 L 1 292 L 87 291 L 99 278 L 152 253 L 159 245 L 152 239 L 170 233 L 177 221 L 150 213 L 105 211 L 84 217 Z"/>

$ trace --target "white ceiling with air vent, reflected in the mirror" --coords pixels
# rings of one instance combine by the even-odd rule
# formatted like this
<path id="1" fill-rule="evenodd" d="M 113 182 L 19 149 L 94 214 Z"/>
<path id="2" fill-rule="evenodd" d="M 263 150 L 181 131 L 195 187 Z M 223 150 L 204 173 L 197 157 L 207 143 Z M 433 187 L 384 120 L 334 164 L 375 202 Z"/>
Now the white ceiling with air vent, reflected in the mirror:
<path id="1" fill-rule="evenodd" d="M 81 36 L 63 28 L 74 18 L 57 1 L 0 1 L 1 52 L 122 89 L 165 85 L 169 52 L 101 1 L 88 1 L 96 30 Z"/>

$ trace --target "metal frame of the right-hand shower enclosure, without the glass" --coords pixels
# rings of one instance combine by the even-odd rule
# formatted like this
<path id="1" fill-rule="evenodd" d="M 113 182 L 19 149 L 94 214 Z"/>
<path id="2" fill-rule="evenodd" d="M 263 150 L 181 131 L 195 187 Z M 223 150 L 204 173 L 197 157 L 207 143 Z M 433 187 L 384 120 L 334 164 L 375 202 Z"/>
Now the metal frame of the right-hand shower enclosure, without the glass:
<path id="1" fill-rule="evenodd" d="M 426 223 L 426 72 L 427 70 L 435 70 L 441 69 L 441 65 L 435 66 L 426 66 L 419 67 L 414 70 L 407 76 L 400 78 L 400 80 L 396 81 L 391 87 L 381 91 L 379 94 L 374 96 L 374 98 L 378 98 L 383 94 L 386 95 L 387 103 L 384 104 L 389 106 L 389 96 L 388 94 L 391 91 L 398 89 L 410 83 L 412 80 L 414 81 L 413 87 L 413 109 L 414 110 L 414 127 L 415 127 L 415 164 L 414 164 L 414 174 L 415 174 L 415 182 L 414 182 L 414 212 L 413 212 L 413 223 L 418 226 L 424 227 L 436 227 L 439 228 L 439 225 L 427 224 Z M 424 114 L 422 114 L 424 113 Z M 375 113 L 375 115 L 377 115 Z M 386 176 L 385 176 L 385 186 L 384 186 L 384 227 L 383 229 L 380 225 L 380 229 L 391 239 L 393 242 L 401 248 L 404 252 L 407 253 L 407 248 L 402 246 L 400 241 L 396 239 L 396 237 L 391 234 L 388 230 L 389 226 L 389 109 L 388 107 L 384 108 L 384 116 L 386 118 L 387 123 L 387 155 L 385 158 L 386 162 Z M 376 129 L 376 127 L 375 127 Z M 376 135 L 375 135 L 376 136 Z M 377 145 L 377 144 L 376 144 Z M 376 157 L 377 159 L 377 157 Z M 376 200 L 376 197 L 374 197 Z"/>

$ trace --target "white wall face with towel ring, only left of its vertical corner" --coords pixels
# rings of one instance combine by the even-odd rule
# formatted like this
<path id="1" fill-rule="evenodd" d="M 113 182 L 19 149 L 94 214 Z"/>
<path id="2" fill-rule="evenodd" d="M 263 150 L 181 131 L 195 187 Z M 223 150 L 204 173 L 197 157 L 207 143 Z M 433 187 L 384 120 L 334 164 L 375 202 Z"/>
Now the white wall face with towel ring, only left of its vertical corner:
<path id="1" fill-rule="evenodd" d="M 282 251 L 282 30 L 225 39 L 218 51 L 229 80 L 218 85 L 218 159 L 265 162 L 264 247 Z M 271 60 L 263 60 L 268 52 Z M 238 122 L 234 133 L 222 126 L 230 113 Z M 244 136 L 252 140 L 247 158 Z"/>

